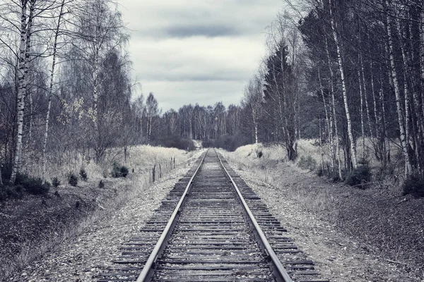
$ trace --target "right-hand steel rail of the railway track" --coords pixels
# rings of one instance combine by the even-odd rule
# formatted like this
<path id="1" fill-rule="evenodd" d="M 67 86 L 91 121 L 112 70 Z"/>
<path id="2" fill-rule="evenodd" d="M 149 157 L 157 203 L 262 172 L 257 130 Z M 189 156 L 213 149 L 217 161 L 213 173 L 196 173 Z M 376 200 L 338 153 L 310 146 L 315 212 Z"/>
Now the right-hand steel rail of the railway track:
<path id="1" fill-rule="evenodd" d="M 215 149 L 213 149 L 213 150 L 216 152 Z M 279 278 L 281 278 L 282 281 L 284 281 L 284 282 L 293 282 L 292 278 L 290 278 L 287 271 L 285 270 L 283 264 L 281 264 L 280 259 L 278 259 L 276 253 L 273 251 L 271 245 L 268 242 L 268 239 L 266 239 L 264 231 L 262 231 L 261 226 L 259 226 L 259 223 L 254 218 L 254 215 L 252 214 L 252 211 L 249 209 L 249 206 L 247 206 L 245 198 L 242 196 L 240 189 L 238 188 L 237 184 L 235 184 L 235 181 L 230 176 L 230 173 L 228 173 L 227 168 L 225 168 L 222 159 L 219 157 L 218 153 L 216 153 L 216 155 L 218 156 L 219 162 L 220 162 L 221 166 L 224 168 L 225 173 L 227 173 L 228 178 L 231 180 L 232 186 L 235 188 L 235 191 L 237 192 L 237 195 L 238 195 L 240 201 L 242 202 L 243 207 L 245 208 L 245 211 L 249 215 L 249 219 L 252 222 L 255 231 L 259 235 L 259 239 L 261 240 L 261 243 L 265 248 L 266 254 L 269 255 L 269 258 L 271 259 L 272 263 L 274 264 L 274 267 L 277 271 Z"/>

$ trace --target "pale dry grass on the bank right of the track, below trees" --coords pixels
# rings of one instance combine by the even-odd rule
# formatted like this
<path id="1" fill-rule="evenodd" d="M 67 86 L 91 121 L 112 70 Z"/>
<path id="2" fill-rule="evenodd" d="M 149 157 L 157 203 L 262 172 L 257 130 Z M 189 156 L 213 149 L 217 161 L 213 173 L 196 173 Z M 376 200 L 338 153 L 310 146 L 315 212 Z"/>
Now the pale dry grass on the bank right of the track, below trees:
<path id="1" fill-rule="evenodd" d="M 295 169 L 296 171 L 307 171 L 298 167 L 298 162 L 301 157 L 312 157 L 317 162 L 317 166 L 321 163 L 321 149 L 316 145 L 317 140 L 300 140 L 298 142 L 298 159 L 295 162 L 287 161 L 287 154 L 285 148 L 281 145 L 264 146 L 259 145 L 262 157 L 258 158 L 254 152 L 256 149 L 255 145 L 245 145 L 239 147 L 232 153 L 224 153 L 225 158 L 228 159 L 232 164 L 235 164 L 235 168 L 239 170 L 249 170 L 254 175 L 259 177 L 259 180 L 263 181 L 265 185 L 269 185 L 270 188 L 284 189 L 288 193 L 289 197 L 295 200 L 309 212 L 323 212 L 331 211 L 334 206 L 334 196 L 331 195 L 332 188 L 326 185 L 319 185 L 319 189 L 313 189 L 311 183 L 307 185 L 297 185 L 293 183 L 295 189 L 287 187 L 287 179 L 282 176 L 283 171 L 287 170 L 287 166 Z M 366 145 L 372 148 L 370 140 L 367 140 Z M 399 148 L 396 145 L 391 144 L 392 152 L 398 152 Z M 392 153 L 392 155 L 394 155 Z M 358 156 L 362 154 L 362 151 L 358 149 Z M 324 161 L 330 161 L 329 158 L 329 147 L 324 146 Z M 374 154 L 369 154 L 370 166 L 373 171 L 377 173 L 379 169 L 379 163 L 375 159 Z M 396 166 L 396 164 L 394 164 Z M 314 171 L 310 172 L 314 173 Z M 325 180 L 323 178 L 323 180 Z M 330 181 L 328 181 L 330 182 Z M 382 187 L 390 191 L 391 194 L 399 194 L 399 185 L 393 183 L 391 178 L 384 178 L 383 180 L 375 181 L 378 187 Z M 397 183 L 399 184 L 399 182 Z M 333 184 L 334 185 L 334 184 Z M 339 185 L 339 184 L 337 184 Z"/>

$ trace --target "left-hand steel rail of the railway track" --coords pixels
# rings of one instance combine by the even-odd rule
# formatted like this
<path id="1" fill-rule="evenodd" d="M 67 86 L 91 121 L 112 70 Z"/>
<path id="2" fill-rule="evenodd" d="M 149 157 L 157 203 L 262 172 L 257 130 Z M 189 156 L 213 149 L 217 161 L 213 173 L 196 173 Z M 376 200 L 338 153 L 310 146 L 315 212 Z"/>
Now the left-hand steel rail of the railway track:
<path id="1" fill-rule="evenodd" d="M 175 223 L 175 219 L 177 218 L 177 214 L 179 213 L 179 209 L 182 206 L 182 203 L 184 202 L 184 198 L 186 197 L 187 193 L 189 192 L 189 188 L 190 188 L 190 185 L 192 185 L 194 177 L 196 176 L 197 172 L 199 171 L 199 168 L 201 167 L 201 165 L 204 162 L 204 159 L 206 157 L 208 150 L 206 151 L 206 153 L 204 153 L 204 157 L 201 159 L 199 166 L 196 168 L 196 171 L 194 171 L 192 178 L 190 178 L 190 180 L 189 180 L 189 183 L 187 183 L 187 186 L 184 190 L 184 193 L 182 194 L 181 198 L 179 199 L 177 207 L 175 207 L 174 212 L 172 212 L 170 220 L 167 222 L 165 229 L 163 230 L 162 234 L 160 235 L 158 242 L 156 243 L 155 247 L 153 248 L 151 255 L 148 257 L 146 264 L 144 265 L 143 270 L 141 271 L 141 274 L 137 278 L 136 282 L 146 281 L 146 278 L 150 274 L 150 271 L 152 269 L 153 264 L 155 263 L 156 259 L 158 259 L 158 255 L 159 255 L 160 249 L 163 247 L 163 243 L 165 243 L 166 238 L 172 232 L 172 230 L 171 230 L 172 225 L 174 225 L 174 223 Z"/>

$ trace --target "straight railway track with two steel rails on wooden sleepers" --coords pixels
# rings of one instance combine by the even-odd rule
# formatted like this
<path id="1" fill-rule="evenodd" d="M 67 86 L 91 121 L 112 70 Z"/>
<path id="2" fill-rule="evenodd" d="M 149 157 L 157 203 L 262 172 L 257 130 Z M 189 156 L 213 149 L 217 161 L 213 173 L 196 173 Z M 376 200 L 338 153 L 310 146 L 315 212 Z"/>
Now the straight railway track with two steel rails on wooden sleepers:
<path id="1" fill-rule="evenodd" d="M 116 266 L 98 282 L 329 282 L 213 149 L 119 248 Z"/>

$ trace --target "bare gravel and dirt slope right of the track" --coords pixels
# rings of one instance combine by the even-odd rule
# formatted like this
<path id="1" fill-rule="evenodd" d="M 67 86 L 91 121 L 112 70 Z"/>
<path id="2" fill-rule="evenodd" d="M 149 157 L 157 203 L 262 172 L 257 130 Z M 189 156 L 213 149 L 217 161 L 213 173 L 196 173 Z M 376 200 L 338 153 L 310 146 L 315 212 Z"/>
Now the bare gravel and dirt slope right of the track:
<path id="1" fill-rule="evenodd" d="M 331 281 L 424 281 L 424 199 L 222 153 Z"/>

